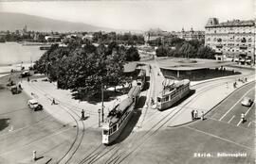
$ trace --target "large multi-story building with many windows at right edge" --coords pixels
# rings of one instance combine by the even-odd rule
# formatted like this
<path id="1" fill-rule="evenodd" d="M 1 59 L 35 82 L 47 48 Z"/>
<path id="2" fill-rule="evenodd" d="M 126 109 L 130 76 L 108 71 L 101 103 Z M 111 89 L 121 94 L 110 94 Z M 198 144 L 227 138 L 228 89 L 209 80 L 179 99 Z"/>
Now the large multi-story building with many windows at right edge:
<path id="1" fill-rule="evenodd" d="M 216 52 L 216 58 L 231 58 L 241 63 L 255 63 L 255 22 L 233 20 L 219 23 L 210 18 L 205 26 L 205 45 Z"/>

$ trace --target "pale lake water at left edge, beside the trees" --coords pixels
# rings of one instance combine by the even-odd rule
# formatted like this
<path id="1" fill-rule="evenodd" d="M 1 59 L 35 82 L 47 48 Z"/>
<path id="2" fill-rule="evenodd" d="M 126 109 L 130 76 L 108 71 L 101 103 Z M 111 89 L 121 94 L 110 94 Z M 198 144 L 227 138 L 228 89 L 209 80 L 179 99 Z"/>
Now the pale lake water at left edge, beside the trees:
<path id="1" fill-rule="evenodd" d="M 23 46 L 17 42 L 0 43 L 0 65 L 35 61 L 45 52 L 36 45 Z"/>

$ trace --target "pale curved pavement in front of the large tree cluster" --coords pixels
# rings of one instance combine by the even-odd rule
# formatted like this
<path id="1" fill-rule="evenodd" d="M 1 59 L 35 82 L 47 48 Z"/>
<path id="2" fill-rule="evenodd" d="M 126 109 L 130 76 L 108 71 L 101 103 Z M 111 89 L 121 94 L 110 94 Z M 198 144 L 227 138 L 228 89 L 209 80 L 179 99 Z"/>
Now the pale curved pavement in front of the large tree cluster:
<path id="1" fill-rule="evenodd" d="M 22 82 L 22 88 L 27 92 L 32 99 L 36 99 L 50 115 L 64 124 L 78 125 L 82 128 L 81 112 L 84 110 L 85 120 L 83 121 L 85 128 L 99 128 L 99 113 L 101 102 L 97 104 L 89 104 L 80 102 L 72 98 L 70 90 L 57 90 L 53 83 L 42 82 L 40 79 L 37 82 Z M 31 93 L 33 95 L 31 95 Z M 126 95 L 119 96 L 123 100 Z M 51 105 L 52 99 L 55 99 L 57 105 Z M 104 118 L 113 107 L 115 100 L 104 102 Z"/>

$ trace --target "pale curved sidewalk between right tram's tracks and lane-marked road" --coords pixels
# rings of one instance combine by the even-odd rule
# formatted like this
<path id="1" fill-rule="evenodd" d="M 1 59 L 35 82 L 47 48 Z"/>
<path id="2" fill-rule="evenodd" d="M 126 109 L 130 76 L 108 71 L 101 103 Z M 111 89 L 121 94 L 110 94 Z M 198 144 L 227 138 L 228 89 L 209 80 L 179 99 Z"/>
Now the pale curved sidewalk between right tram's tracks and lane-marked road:
<path id="1" fill-rule="evenodd" d="M 247 83 L 253 80 L 255 80 L 254 76 L 249 76 L 249 78 L 247 79 Z M 196 101 L 190 103 L 190 107 L 182 107 L 182 109 L 169 122 L 169 126 L 174 127 L 185 123 L 191 123 L 192 110 L 197 110 L 198 117 L 200 118 L 202 112 L 206 114 L 210 111 L 212 107 L 215 107 L 223 99 L 227 98 L 229 94 L 231 94 L 234 90 L 238 90 L 240 87 L 246 85 L 247 83 L 238 82 L 236 89 L 233 89 L 232 83 L 228 83 L 228 87 L 227 85 L 221 85 L 210 90 L 204 91 L 203 94 L 200 94 L 196 98 Z"/>

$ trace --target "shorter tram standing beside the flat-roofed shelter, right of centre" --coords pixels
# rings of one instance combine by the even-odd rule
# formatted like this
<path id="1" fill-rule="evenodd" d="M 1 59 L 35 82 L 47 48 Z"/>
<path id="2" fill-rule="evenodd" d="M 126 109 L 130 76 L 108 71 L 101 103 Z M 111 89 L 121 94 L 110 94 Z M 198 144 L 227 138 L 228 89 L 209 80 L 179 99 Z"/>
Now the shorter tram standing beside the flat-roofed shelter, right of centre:
<path id="1" fill-rule="evenodd" d="M 164 86 L 164 89 L 157 96 L 157 109 L 163 110 L 172 107 L 177 101 L 190 93 L 190 91 L 190 80 L 188 79 Z"/>

